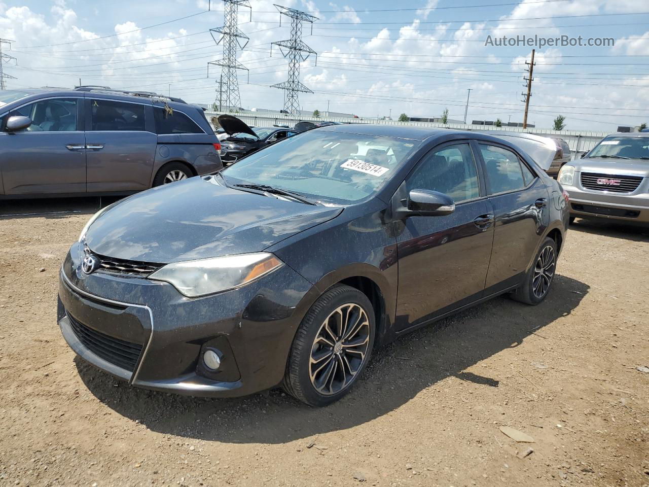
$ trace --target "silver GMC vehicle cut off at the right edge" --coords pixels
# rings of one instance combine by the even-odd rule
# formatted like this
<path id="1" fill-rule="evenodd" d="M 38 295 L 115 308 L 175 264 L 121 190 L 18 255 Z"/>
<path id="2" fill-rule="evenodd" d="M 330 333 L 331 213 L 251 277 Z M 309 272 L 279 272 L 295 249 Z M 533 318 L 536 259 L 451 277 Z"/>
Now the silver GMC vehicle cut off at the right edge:
<path id="1" fill-rule="evenodd" d="M 611 134 L 559 171 L 574 218 L 649 225 L 649 133 Z"/>

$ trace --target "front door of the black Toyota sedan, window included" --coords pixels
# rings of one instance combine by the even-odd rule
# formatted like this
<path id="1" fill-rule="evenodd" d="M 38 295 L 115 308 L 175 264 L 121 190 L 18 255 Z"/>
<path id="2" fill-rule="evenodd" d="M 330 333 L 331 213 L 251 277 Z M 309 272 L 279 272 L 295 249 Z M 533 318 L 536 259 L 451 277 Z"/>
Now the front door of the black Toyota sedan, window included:
<path id="1" fill-rule="evenodd" d="M 435 147 L 411 171 L 406 190 L 433 190 L 456 206 L 447 216 L 411 216 L 397 232 L 397 329 L 482 296 L 493 240 L 493 214 L 469 142 Z"/>

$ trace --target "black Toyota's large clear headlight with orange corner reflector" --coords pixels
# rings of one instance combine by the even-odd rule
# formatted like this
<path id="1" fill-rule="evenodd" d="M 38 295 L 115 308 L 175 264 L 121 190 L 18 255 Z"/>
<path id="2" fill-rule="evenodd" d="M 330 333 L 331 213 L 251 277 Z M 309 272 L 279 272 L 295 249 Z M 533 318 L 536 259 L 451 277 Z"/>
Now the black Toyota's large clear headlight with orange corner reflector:
<path id="1" fill-rule="evenodd" d="M 169 282 L 180 293 L 197 297 L 239 288 L 282 265 L 281 260 L 266 252 L 227 255 L 173 262 L 155 271 L 149 279 Z"/>

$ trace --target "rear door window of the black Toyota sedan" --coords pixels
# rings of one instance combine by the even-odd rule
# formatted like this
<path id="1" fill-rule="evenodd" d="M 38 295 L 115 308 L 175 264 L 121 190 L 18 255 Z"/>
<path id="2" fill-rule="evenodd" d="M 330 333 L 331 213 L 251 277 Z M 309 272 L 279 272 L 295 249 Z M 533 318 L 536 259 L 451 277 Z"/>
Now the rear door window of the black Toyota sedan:
<path id="1" fill-rule="evenodd" d="M 520 190 L 532 181 L 530 169 L 520 164 L 513 152 L 495 145 L 479 146 L 485 160 L 491 194 Z"/>

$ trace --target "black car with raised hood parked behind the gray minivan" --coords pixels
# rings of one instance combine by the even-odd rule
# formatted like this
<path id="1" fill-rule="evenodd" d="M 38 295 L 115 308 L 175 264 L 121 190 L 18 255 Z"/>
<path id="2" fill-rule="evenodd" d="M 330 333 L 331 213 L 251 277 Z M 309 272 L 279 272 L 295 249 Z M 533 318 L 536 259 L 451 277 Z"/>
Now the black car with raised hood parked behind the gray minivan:
<path id="1" fill-rule="evenodd" d="M 221 139 L 221 160 L 226 166 L 243 156 L 267 147 L 278 140 L 296 134 L 295 130 L 282 127 L 250 127 L 233 115 L 220 115 L 219 124 L 228 134 Z"/>

